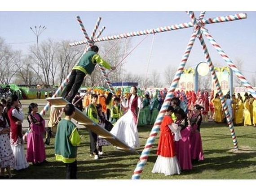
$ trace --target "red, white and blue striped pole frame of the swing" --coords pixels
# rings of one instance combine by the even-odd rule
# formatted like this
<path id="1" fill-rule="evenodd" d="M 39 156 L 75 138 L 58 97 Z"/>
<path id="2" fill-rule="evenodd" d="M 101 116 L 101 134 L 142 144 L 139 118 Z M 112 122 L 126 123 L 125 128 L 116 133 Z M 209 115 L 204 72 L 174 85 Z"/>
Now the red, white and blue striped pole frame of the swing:
<path id="1" fill-rule="evenodd" d="M 144 149 L 141 153 L 141 157 L 139 158 L 137 166 L 136 166 L 136 168 L 133 172 L 132 179 L 139 179 L 140 175 L 143 171 L 143 168 L 146 165 L 146 161 L 147 161 L 147 158 L 150 154 L 150 150 L 153 146 L 155 137 L 157 136 L 157 134 L 159 132 L 160 125 L 161 125 L 162 120 L 163 120 L 163 116 L 164 116 L 164 114 L 165 114 L 165 112 L 166 112 L 166 110 L 167 110 L 167 108 L 170 104 L 171 99 L 173 98 L 174 91 L 177 87 L 178 81 L 180 80 L 181 74 L 183 73 L 185 64 L 186 64 L 186 62 L 189 58 L 190 51 L 191 51 L 191 49 L 194 45 L 194 41 L 195 41 L 196 38 L 199 38 L 199 41 L 201 43 L 201 46 L 202 46 L 202 49 L 203 49 L 203 52 L 204 52 L 206 62 L 208 64 L 209 68 L 210 68 L 212 78 L 213 78 L 214 83 L 216 85 L 218 94 L 221 98 L 221 104 L 222 104 L 222 107 L 224 108 L 225 115 L 226 115 L 226 118 L 227 118 L 227 122 L 228 122 L 228 125 L 229 125 L 229 128 L 230 128 L 230 132 L 231 132 L 231 136 L 232 136 L 232 140 L 233 140 L 233 144 L 234 144 L 234 149 L 238 149 L 238 141 L 237 141 L 237 138 L 236 138 L 236 135 L 235 135 L 235 132 L 234 132 L 234 125 L 232 123 L 232 120 L 230 119 L 229 110 L 227 108 L 227 105 L 226 105 L 226 102 L 225 102 L 225 99 L 224 99 L 224 96 L 223 96 L 223 93 L 222 93 L 222 90 L 221 90 L 221 86 L 220 86 L 218 78 L 216 76 L 214 66 L 212 64 L 212 60 L 210 58 L 210 55 L 208 53 L 206 44 L 204 42 L 203 34 L 211 42 L 212 46 L 216 48 L 216 51 L 224 59 L 224 61 L 228 64 L 228 66 L 232 69 L 234 74 L 243 83 L 243 85 L 247 88 L 247 90 L 252 94 L 252 96 L 254 98 L 256 98 L 256 91 L 252 88 L 252 85 L 249 84 L 249 82 L 242 75 L 242 73 L 238 70 L 238 68 L 236 68 L 235 64 L 231 61 L 231 59 L 228 57 L 228 55 L 225 54 L 225 52 L 221 49 L 219 44 L 215 41 L 215 39 L 211 36 L 211 34 L 205 28 L 205 25 L 207 25 L 207 24 L 246 19 L 247 14 L 246 13 L 239 13 L 239 14 L 235 14 L 235 15 L 228 15 L 228 16 L 223 16 L 223 17 L 214 17 L 214 18 L 203 19 L 204 15 L 205 15 L 205 11 L 202 11 L 200 13 L 199 19 L 197 19 L 194 16 L 194 12 L 189 11 L 189 12 L 186 12 L 186 13 L 190 16 L 190 19 L 191 19 L 191 21 L 187 22 L 187 23 L 181 23 L 181 24 L 177 24 L 177 25 L 169 25 L 169 26 L 159 27 L 159 28 L 156 28 L 156 29 L 141 30 L 141 31 L 119 34 L 119 35 L 112 35 L 112 36 L 107 36 L 107 37 L 102 37 L 102 38 L 99 38 L 99 36 L 102 34 L 105 27 L 103 27 L 102 30 L 99 32 L 99 34 L 96 35 L 96 37 L 95 37 L 95 32 L 96 32 L 96 30 L 99 26 L 100 21 L 101 21 L 100 17 L 97 21 L 97 24 L 95 25 L 95 28 L 94 28 L 90 38 L 88 37 L 88 34 L 87 34 L 86 30 L 84 29 L 84 25 L 83 25 L 82 21 L 80 20 L 80 17 L 79 16 L 77 17 L 77 21 L 79 22 L 80 28 L 83 31 L 84 37 L 86 38 L 86 40 L 79 41 L 79 42 L 73 42 L 73 43 L 70 44 L 70 46 L 77 46 L 77 45 L 86 44 L 87 47 L 86 47 L 84 52 L 86 52 L 88 50 L 88 47 L 92 46 L 95 42 L 114 40 L 114 39 L 119 39 L 119 38 L 128 38 L 128 37 L 134 37 L 134 36 L 140 36 L 140 35 L 146 35 L 146 34 L 148 36 L 149 34 L 166 32 L 166 31 L 171 31 L 171 30 L 179 30 L 179 29 L 184 29 L 184 28 L 189 28 L 189 27 L 194 28 L 193 34 L 190 37 L 190 40 L 189 40 L 189 43 L 188 43 L 187 48 L 185 50 L 185 53 L 182 56 L 181 63 L 179 65 L 179 67 L 177 68 L 177 72 L 174 76 L 174 79 L 172 80 L 172 84 L 171 84 L 171 86 L 168 90 L 166 98 L 163 102 L 163 105 L 162 105 L 160 111 L 159 111 L 159 115 L 157 116 L 157 119 L 154 123 L 154 126 L 151 129 L 150 136 L 146 141 L 145 147 L 144 147 Z M 100 67 L 100 69 L 103 73 L 103 76 L 105 77 L 105 80 L 106 80 L 107 84 L 110 87 L 110 90 L 115 95 L 115 91 L 113 91 L 114 90 L 113 86 L 111 85 L 111 82 L 107 77 L 105 68 L 103 68 L 101 66 L 99 66 L 99 67 Z M 62 90 L 64 89 L 64 87 L 66 86 L 66 84 L 68 82 L 68 78 L 69 78 L 70 74 L 62 82 L 62 85 L 57 89 L 56 93 L 53 95 L 53 98 L 56 97 L 57 95 L 59 95 L 62 92 Z M 50 106 L 50 104 L 46 105 L 44 107 L 44 109 L 40 112 L 40 115 L 44 115 L 45 112 L 49 109 L 49 106 Z"/>

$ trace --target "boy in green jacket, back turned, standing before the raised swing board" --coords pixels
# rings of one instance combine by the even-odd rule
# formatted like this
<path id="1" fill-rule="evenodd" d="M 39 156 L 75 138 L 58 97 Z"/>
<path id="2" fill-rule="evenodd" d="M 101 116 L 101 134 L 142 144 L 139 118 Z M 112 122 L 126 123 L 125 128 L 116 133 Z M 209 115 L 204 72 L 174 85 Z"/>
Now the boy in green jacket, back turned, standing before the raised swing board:
<path id="1" fill-rule="evenodd" d="M 80 144 L 80 136 L 77 127 L 71 119 L 75 115 L 75 106 L 67 104 L 64 107 L 66 117 L 58 123 L 55 136 L 56 161 L 66 164 L 66 179 L 76 179 L 77 171 L 77 146 Z"/>

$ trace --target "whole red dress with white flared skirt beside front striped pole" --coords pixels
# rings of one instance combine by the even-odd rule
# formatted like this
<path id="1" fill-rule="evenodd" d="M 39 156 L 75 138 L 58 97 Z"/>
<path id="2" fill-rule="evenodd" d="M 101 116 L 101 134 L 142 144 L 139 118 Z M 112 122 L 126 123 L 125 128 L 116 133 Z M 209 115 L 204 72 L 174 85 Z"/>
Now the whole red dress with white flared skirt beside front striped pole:
<path id="1" fill-rule="evenodd" d="M 180 174 L 180 165 L 177 161 L 174 138 L 171 127 L 172 118 L 165 115 L 160 126 L 160 136 L 157 149 L 157 159 L 154 163 L 152 173 L 163 173 L 166 176 Z"/>

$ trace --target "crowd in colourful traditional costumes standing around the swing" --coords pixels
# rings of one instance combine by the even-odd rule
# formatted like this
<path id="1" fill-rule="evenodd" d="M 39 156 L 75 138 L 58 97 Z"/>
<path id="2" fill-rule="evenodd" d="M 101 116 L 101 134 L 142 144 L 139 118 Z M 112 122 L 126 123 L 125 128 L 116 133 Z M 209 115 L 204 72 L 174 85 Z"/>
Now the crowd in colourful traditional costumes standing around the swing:
<path id="1" fill-rule="evenodd" d="M 77 93 L 72 104 L 64 108 L 64 119 L 61 119 L 59 109 L 51 107 L 47 125 L 38 113 L 36 103 L 29 105 L 28 115 L 25 115 L 16 94 L 11 95 L 8 102 L 2 99 L 0 103 L 0 177 L 11 178 L 11 168 L 22 170 L 29 166 L 29 162 L 33 165 L 47 162 L 44 144 L 50 144 L 51 131 L 55 129 L 56 160 L 66 164 L 66 178 L 76 178 L 76 152 L 81 140 L 75 123 L 71 122 L 75 112 L 74 106 L 119 140 L 136 149 L 140 146 L 137 126 L 154 124 L 166 94 L 167 92 L 157 91 L 153 96 L 145 92 L 141 98 L 137 95 L 136 86 L 130 88 L 130 93 L 118 96 L 100 91 L 88 93 L 82 99 Z M 238 98 L 233 94 L 230 98 L 229 94 L 225 95 L 230 119 L 235 125 L 255 127 L 255 99 L 248 93 L 245 93 L 244 98 L 239 93 L 237 96 Z M 26 153 L 22 139 L 22 121 L 25 118 L 29 123 Z M 176 91 L 160 126 L 158 157 L 152 173 L 180 174 L 181 170 L 191 170 L 193 161 L 204 160 L 200 125 L 209 119 L 216 123 L 225 123 L 225 115 L 218 94 L 213 97 L 212 92 L 206 91 L 197 93 Z M 48 136 L 44 141 L 45 126 Z M 66 130 L 57 128 L 60 126 L 65 127 Z M 68 134 L 66 140 L 63 140 L 64 134 Z M 111 144 L 98 137 L 93 131 L 89 131 L 89 138 L 89 155 L 98 160 L 104 155 L 103 147 Z M 67 145 L 69 145 L 68 148 Z"/>

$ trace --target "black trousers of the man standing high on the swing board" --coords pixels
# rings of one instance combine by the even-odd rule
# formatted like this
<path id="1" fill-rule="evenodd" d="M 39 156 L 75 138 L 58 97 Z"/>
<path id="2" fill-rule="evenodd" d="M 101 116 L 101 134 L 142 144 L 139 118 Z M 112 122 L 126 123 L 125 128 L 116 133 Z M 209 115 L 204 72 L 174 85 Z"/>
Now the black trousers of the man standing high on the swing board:
<path id="1" fill-rule="evenodd" d="M 62 92 L 62 98 L 66 98 L 67 101 L 72 103 L 73 98 L 75 98 L 76 93 L 84 81 L 85 75 L 80 70 L 72 70 L 66 88 Z"/>

